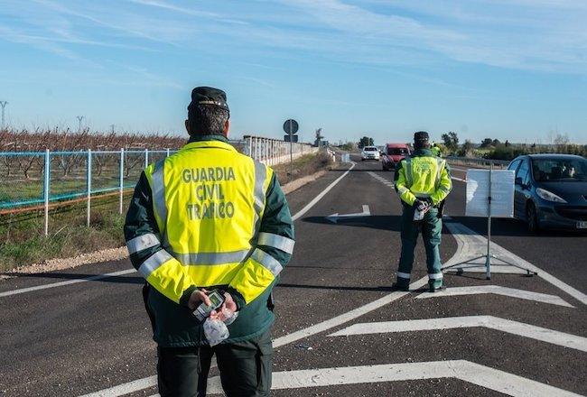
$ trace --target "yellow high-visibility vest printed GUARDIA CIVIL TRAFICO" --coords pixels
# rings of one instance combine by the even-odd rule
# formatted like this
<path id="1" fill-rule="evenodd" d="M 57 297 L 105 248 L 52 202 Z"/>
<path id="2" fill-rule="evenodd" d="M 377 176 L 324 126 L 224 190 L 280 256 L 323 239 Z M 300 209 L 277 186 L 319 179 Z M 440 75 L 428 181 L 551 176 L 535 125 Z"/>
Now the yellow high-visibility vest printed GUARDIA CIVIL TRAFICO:
<path id="1" fill-rule="evenodd" d="M 163 250 L 139 268 L 179 302 L 191 285 L 229 285 L 248 303 L 275 280 L 281 264 L 255 244 L 293 250 L 293 240 L 257 233 L 273 171 L 220 141 L 186 144 L 144 171 Z M 144 237 L 145 239 L 147 237 Z"/>

